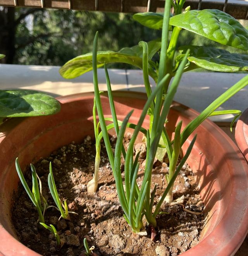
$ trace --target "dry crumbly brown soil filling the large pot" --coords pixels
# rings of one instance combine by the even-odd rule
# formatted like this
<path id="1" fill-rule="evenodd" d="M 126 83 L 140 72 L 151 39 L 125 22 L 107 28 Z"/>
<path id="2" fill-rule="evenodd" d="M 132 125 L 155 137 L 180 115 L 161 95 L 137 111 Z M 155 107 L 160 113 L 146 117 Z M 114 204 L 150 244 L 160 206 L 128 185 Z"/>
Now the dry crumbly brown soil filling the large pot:
<path id="1" fill-rule="evenodd" d="M 114 138 L 112 141 L 114 144 Z M 142 151 L 143 146 L 141 143 L 136 145 L 136 151 Z M 145 151 L 141 152 L 140 156 L 144 157 Z M 96 255 L 176 256 L 198 243 L 204 224 L 204 214 L 188 213 L 181 205 L 163 206 L 161 210 L 169 214 L 158 215 L 159 230 L 154 242 L 150 235 L 139 236 L 132 233 L 123 218 L 112 170 L 103 145 L 99 189 L 95 195 L 88 195 L 86 184 L 92 178 L 95 162 L 95 145 L 90 137 L 85 138 L 82 144 L 76 145 L 72 142 L 35 164 L 43 184 L 43 195 L 48 198 L 50 205 L 55 205 L 47 186 L 50 161 L 60 198 L 66 199 L 69 210 L 78 215 L 70 214 L 71 220 L 59 220 L 60 213 L 55 208 L 49 208 L 45 212 L 45 222 L 57 228 L 64 242 L 62 248 L 57 250 L 54 236 L 40 227 L 36 209 L 20 185 L 14 195 L 12 219 L 21 242 L 34 251 L 46 256 L 82 256 L 85 252 L 83 239 L 86 238 L 90 247 L 95 246 Z M 140 161 L 141 167 L 144 166 L 144 159 L 141 158 Z M 166 187 L 166 172 L 166 160 L 164 163 L 157 161 L 154 164 L 152 188 L 155 183 L 158 184 L 156 200 Z M 138 185 L 142 182 L 142 173 L 141 168 Z M 29 170 L 26 171 L 26 180 L 31 187 Z M 174 190 L 174 197 L 182 197 L 186 209 L 195 212 L 203 210 L 203 202 L 189 166 L 183 166 Z"/>

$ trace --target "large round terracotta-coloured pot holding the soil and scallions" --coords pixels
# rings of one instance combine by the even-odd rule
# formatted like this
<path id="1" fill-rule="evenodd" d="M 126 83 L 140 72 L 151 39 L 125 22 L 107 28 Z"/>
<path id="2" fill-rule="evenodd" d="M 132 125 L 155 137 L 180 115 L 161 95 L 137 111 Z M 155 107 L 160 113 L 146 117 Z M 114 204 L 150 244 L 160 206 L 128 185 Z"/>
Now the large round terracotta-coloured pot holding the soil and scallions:
<path id="1" fill-rule="evenodd" d="M 115 92 L 119 118 L 134 109 L 136 122 L 146 96 L 141 93 Z M 1 126 L 0 133 L 0 252 L 5 256 L 39 255 L 15 238 L 11 224 L 12 193 L 19 178 L 15 171 L 15 157 L 22 168 L 45 157 L 58 147 L 79 142 L 93 135 L 93 94 L 61 97 L 61 112 L 54 116 L 10 119 Z M 103 97 L 104 112 L 110 114 L 108 100 Z M 177 121 L 183 127 L 195 118 L 197 112 L 174 103 L 169 114 L 168 130 L 173 131 Z M 148 119 L 144 123 L 148 127 Z M 211 121 L 205 121 L 197 130 L 198 137 L 188 163 L 195 172 L 200 194 L 205 203 L 207 225 L 198 245 L 181 254 L 184 256 L 231 256 L 242 244 L 248 230 L 248 166 L 232 140 Z M 185 151 L 190 139 L 185 143 Z"/>

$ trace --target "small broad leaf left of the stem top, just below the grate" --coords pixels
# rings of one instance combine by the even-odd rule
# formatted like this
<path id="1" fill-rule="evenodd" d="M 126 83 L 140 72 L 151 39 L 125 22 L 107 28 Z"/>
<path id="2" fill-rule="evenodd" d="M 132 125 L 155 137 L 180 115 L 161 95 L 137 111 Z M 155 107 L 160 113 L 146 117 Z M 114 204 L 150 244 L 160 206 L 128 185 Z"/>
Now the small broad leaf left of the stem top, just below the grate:
<path id="1" fill-rule="evenodd" d="M 152 29 L 162 29 L 163 26 L 163 13 L 154 13 L 154 12 L 141 12 L 136 13 L 133 16 L 133 19 L 140 22 L 143 26 Z M 172 27 L 169 28 L 172 30 Z"/>

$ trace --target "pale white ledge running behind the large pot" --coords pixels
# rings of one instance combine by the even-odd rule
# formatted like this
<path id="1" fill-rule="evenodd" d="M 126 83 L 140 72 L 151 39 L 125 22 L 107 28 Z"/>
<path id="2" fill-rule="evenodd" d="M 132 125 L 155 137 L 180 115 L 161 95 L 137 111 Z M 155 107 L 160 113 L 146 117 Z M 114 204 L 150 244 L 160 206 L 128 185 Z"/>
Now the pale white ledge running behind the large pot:
<path id="1" fill-rule="evenodd" d="M 110 81 L 113 90 L 130 90 L 145 92 L 143 75 L 140 70 L 110 69 Z M 201 112 L 221 93 L 234 85 L 244 73 L 184 73 L 175 100 Z M 98 71 L 100 90 L 107 90 L 103 69 Z M 93 92 L 92 72 L 83 76 L 66 80 L 59 74 L 55 66 L 24 66 L 0 64 L 0 89 L 31 89 L 50 93 L 54 96 L 79 92 Z M 154 82 L 151 79 L 151 84 Z M 248 107 L 248 88 L 236 93 L 224 103 L 222 110 L 238 109 L 244 111 Z M 213 121 L 231 121 L 232 116 L 212 117 Z"/>

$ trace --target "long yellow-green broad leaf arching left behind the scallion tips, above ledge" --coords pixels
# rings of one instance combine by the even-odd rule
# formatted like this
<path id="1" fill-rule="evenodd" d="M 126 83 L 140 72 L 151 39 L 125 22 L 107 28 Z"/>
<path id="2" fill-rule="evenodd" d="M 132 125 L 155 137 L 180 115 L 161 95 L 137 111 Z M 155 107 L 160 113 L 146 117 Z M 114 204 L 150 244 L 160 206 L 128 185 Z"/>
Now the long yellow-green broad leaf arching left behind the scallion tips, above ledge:
<path id="1" fill-rule="evenodd" d="M 104 63 L 111 62 L 122 62 L 131 64 L 133 66 L 139 67 L 142 69 L 142 58 L 138 57 L 132 50 L 127 52 L 127 49 L 124 50 L 125 53 L 122 52 L 97 52 L 97 67 L 102 67 Z M 149 74 L 150 76 L 156 80 L 157 74 L 153 70 L 155 67 L 155 63 L 149 62 Z M 59 70 L 60 74 L 67 79 L 76 78 L 77 76 L 81 76 L 82 74 L 92 70 L 92 53 L 84 54 L 77 56 L 76 58 L 68 61 L 64 64 Z"/>

